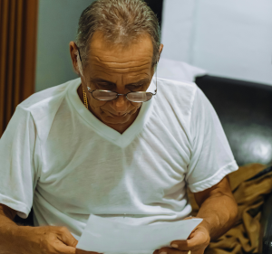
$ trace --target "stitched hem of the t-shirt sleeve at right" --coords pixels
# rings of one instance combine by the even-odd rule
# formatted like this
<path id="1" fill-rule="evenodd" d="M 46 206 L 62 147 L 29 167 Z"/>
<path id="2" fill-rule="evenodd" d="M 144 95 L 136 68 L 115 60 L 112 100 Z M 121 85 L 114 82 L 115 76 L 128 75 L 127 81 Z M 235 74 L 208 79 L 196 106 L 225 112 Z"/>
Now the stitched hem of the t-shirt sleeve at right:
<path id="1" fill-rule="evenodd" d="M 230 174 L 231 172 L 234 172 L 237 170 L 238 170 L 238 165 L 236 161 L 232 161 L 228 165 L 221 167 L 216 174 L 213 174 L 208 179 L 198 183 L 189 184 L 189 190 L 192 193 L 202 192 L 206 189 L 209 189 L 213 185 L 219 183 L 227 174 Z"/>

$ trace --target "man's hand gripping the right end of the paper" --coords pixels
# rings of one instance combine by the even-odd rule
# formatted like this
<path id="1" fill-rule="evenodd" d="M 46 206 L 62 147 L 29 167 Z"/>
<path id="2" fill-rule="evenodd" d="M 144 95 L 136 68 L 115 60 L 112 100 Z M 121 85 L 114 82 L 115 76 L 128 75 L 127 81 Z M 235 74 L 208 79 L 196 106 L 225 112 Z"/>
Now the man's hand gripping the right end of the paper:
<path id="1" fill-rule="evenodd" d="M 184 220 L 189 220 L 190 218 L 186 218 Z M 156 249 L 153 254 L 203 254 L 204 250 L 209 245 L 209 230 L 202 224 L 199 224 L 195 230 L 193 230 L 188 240 L 173 240 L 170 245 L 172 248 L 161 248 Z"/>

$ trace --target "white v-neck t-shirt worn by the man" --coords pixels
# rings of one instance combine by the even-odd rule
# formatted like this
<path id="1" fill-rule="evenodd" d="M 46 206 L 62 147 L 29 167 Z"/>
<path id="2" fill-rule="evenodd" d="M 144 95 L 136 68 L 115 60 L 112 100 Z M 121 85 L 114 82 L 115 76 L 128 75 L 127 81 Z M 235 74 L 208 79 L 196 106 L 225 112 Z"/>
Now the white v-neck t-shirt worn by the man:
<path id="1" fill-rule="evenodd" d="M 187 184 L 197 193 L 238 169 L 196 84 L 158 79 L 123 134 L 84 107 L 80 84 L 24 100 L 0 140 L 0 203 L 22 218 L 33 206 L 35 226 L 66 226 L 78 239 L 91 213 L 133 225 L 181 220 Z"/>

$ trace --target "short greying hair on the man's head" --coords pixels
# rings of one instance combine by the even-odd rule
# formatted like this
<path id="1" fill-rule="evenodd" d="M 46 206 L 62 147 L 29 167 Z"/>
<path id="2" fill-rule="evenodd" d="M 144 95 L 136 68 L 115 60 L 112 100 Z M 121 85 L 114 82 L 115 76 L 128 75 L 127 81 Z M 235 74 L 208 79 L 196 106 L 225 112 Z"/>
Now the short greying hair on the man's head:
<path id="1" fill-rule="evenodd" d="M 96 31 L 101 31 L 107 42 L 123 47 L 129 46 L 141 34 L 150 34 L 153 44 L 152 66 L 159 60 L 159 21 L 143 0 L 97 0 L 83 11 L 76 37 L 83 65 L 88 61 L 90 42 Z"/>

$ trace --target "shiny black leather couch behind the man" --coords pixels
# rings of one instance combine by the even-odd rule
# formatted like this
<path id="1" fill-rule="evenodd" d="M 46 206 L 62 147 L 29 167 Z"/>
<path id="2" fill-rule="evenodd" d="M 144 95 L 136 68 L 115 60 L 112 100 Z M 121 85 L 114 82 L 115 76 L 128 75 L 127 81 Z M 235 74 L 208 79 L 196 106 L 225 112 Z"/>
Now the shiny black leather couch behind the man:
<path id="1" fill-rule="evenodd" d="M 238 165 L 272 164 L 272 86 L 208 75 L 196 83 L 216 109 Z M 33 212 L 15 221 L 33 225 Z M 263 208 L 262 229 L 260 253 L 272 254 L 272 195 Z"/>

